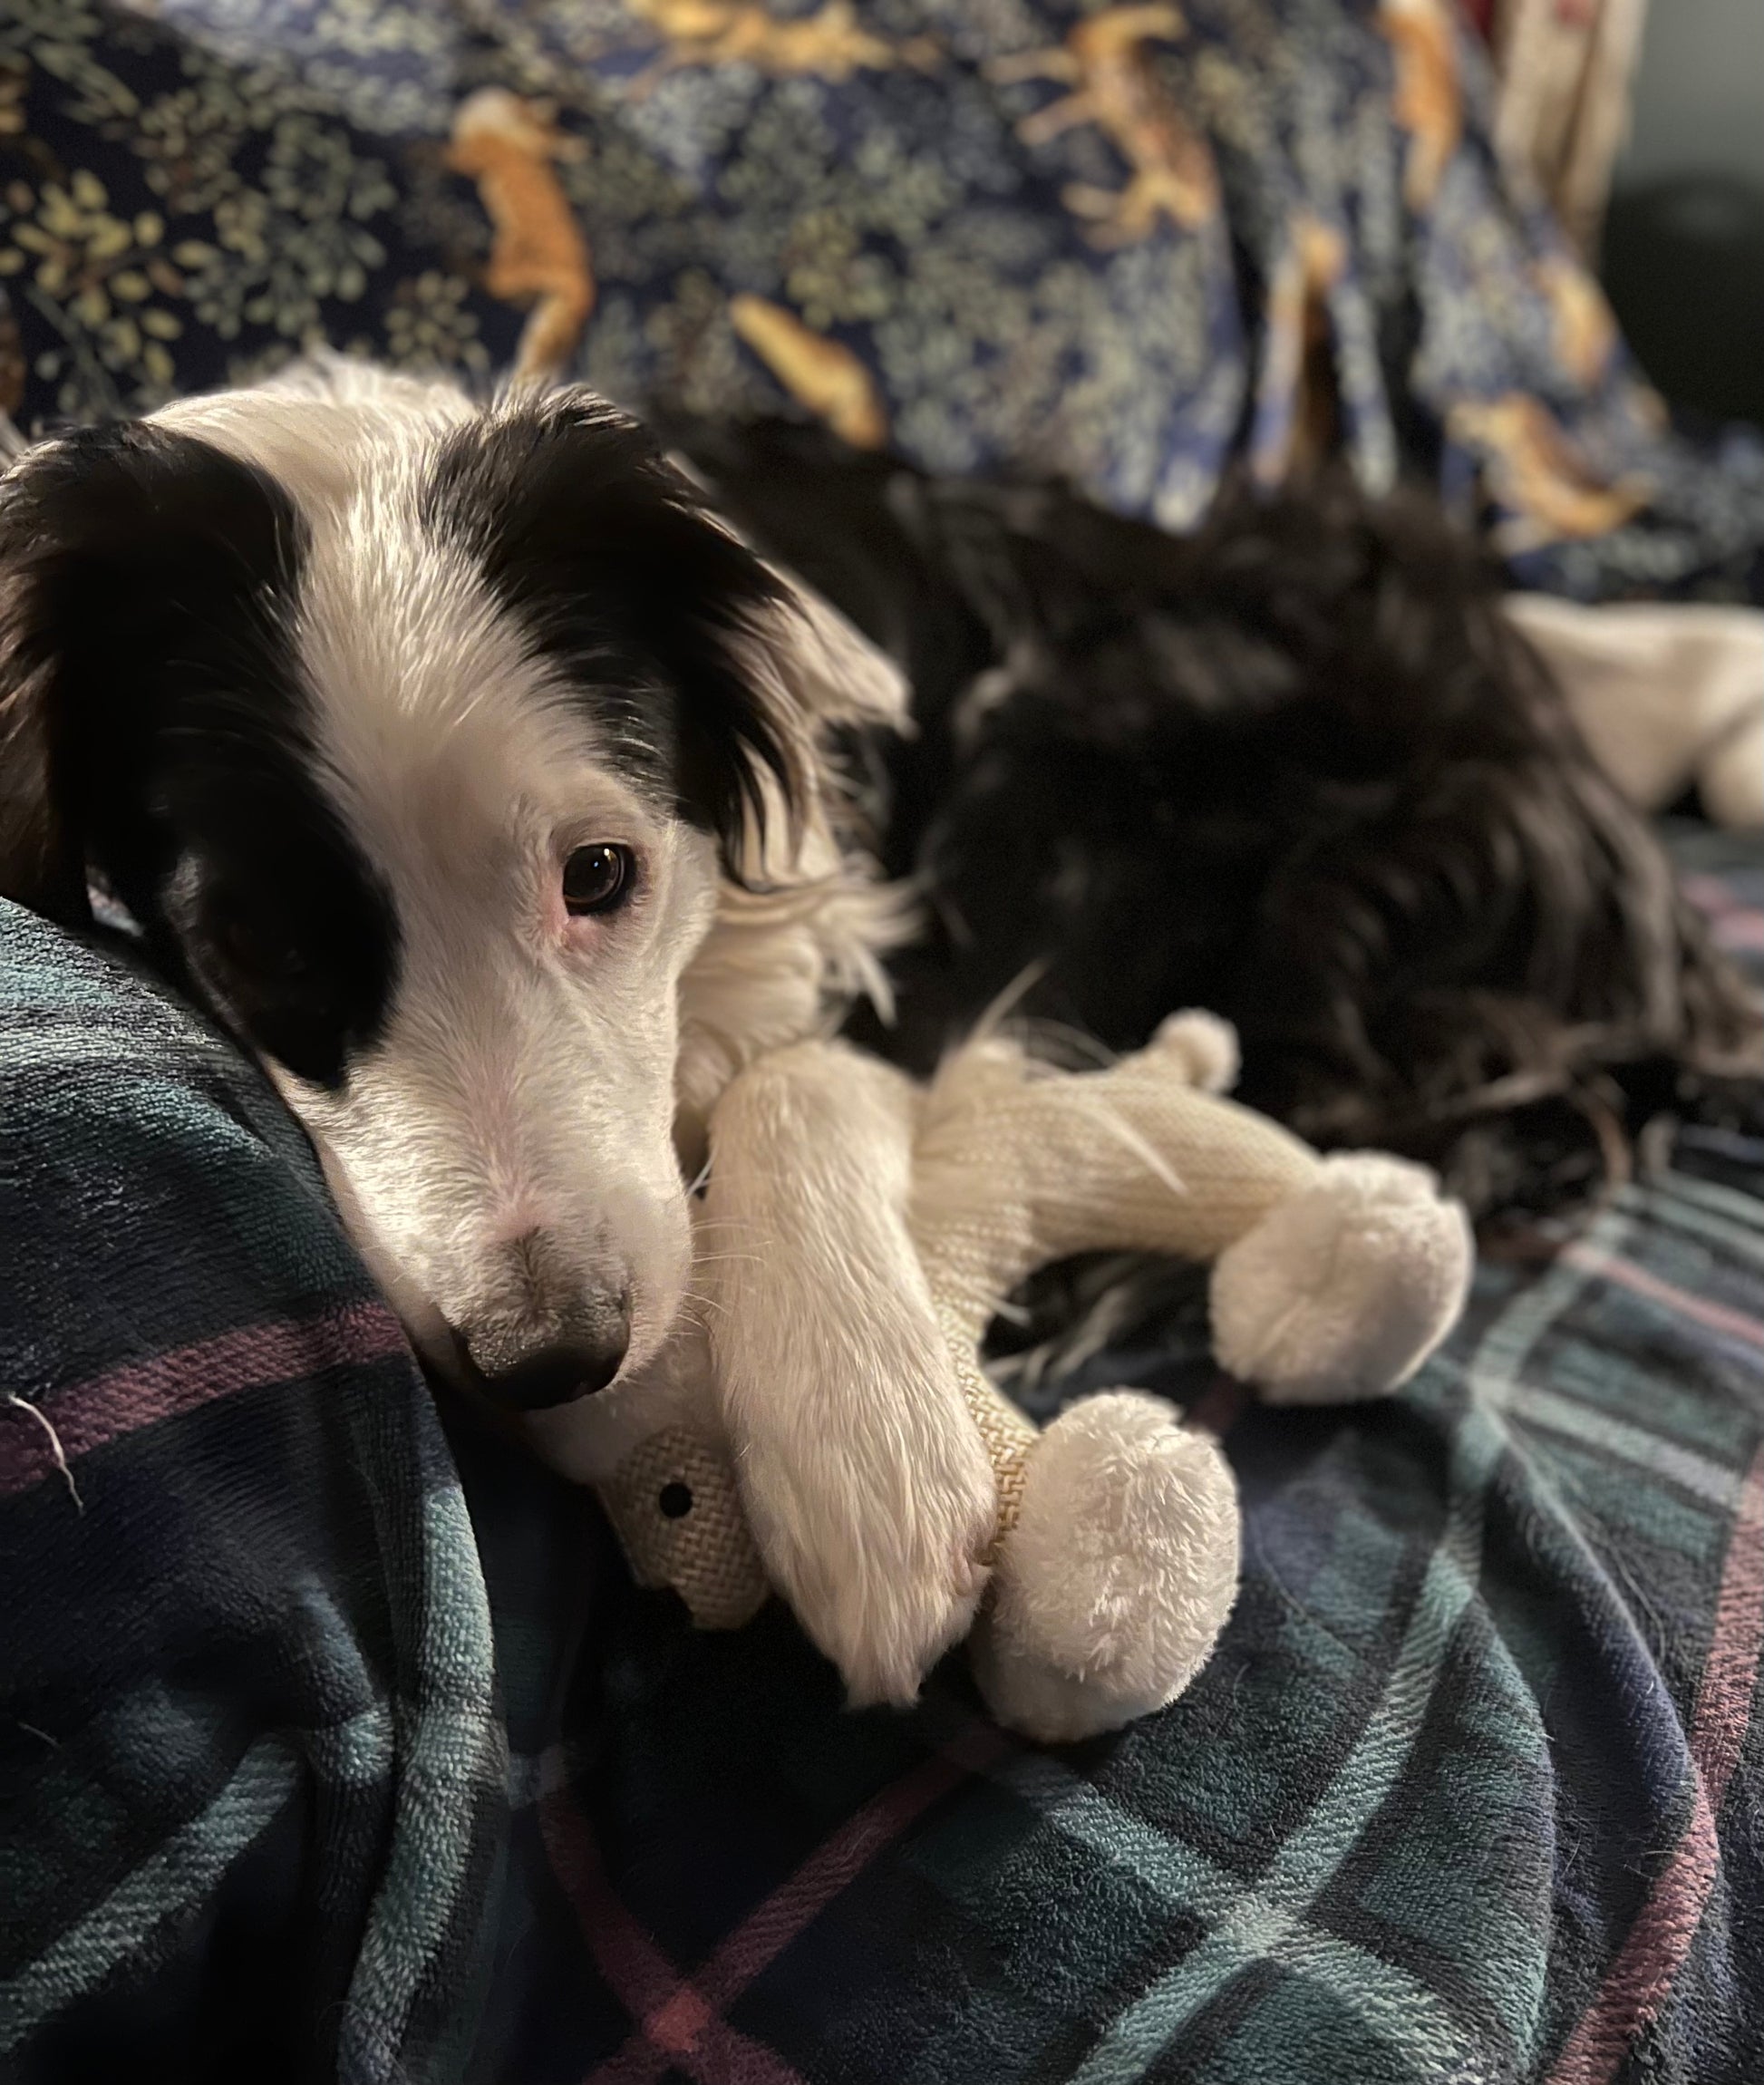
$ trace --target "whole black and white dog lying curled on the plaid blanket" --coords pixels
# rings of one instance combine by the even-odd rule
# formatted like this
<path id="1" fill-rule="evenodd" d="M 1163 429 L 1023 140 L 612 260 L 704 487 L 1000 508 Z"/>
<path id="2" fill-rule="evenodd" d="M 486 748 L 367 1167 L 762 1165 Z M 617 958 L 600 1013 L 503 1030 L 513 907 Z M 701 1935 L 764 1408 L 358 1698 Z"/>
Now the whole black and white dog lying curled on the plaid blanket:
<path id="1" fill-rule="evenodd" d="M 1178 544 L 815 436 L 686 448 L 892 653 L 917 736 L 901 676 L 580 392 L 327 365 L 0 482 L 0 894 L 133 915 L 279 1082 L 440 1370 L 519 1409 L 642 1370 L 711 1103 L 886 999 L 899 907 L 830 736 L 886 769 L 884 865 L 934 924 L 909 1059 L 1030 965 L 1034 1011 L 1111 1045 L 1214 1005 L 1251 1099 L 1474 1193 L 1466 1124 L 1749 1040 L 1441 530 L 1320 500 Z M 807 1216 L 719 1368 L 751 1357 L 726 1389 L 763 1414 L 774 1578 L 859 1699 L 905 1697 L 967 1624 L 995 1493 L 840 1105 L 780 1115 Z"/>

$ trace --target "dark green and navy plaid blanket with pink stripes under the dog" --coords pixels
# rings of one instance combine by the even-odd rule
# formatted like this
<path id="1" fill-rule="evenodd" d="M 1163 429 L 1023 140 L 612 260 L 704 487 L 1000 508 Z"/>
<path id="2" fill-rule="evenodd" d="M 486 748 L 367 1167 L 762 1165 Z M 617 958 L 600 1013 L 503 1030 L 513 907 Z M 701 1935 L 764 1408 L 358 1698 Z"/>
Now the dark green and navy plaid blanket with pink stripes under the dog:
<path id="1" fill-rule="evenodd" d="M 1685 857 L 1764 957 L 1764 857 Z M 634 1591 L 448 1439 L 248 1065 L 17 911 L 0 992 L 0 2075 L 1764 2077 L 1764 1147 L 1485 1268 L 1387 1405 L 1109 1355 L 1226 1430 L 1243 1597 L 1036 1751 Z"/>

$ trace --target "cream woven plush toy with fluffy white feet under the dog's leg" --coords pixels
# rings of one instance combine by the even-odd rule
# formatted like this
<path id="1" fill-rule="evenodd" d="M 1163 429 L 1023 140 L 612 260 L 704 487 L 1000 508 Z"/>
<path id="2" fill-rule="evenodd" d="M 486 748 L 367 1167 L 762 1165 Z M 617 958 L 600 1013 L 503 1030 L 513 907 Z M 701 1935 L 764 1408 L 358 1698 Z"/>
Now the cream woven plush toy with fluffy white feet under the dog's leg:
<path id="1" fill-rule="evenodd" d="M 1138 1391 L 1084 1397 L 1038 1432 L 980 1370 L 1001 1299 L 1078 1251 L 1211 1261 L 1218 1359 L 1276 1403 L 1387 1395 L 1464 1305 L 1470 1226 L 1432 1176 L 1320 1157 L 1220 1099 L 1234 1074 L 1232 1030 L 1182 1013 L 1109 1070 L 1055 1072 L 995 1034 L 907 1088 L 911 1236 L 999 1489 L 970 1655 L 999 1722 L 1040 1741 L 1118 1728 L 1205 1664 L 1236 1595 L 1236 1487 L 1209 1434 Z M 855 1057 L 853 1076 L 899 1078 L 874 1059 L 859 1074 Z M 719 1118 L 713 1178 L 757 1163 L 734 1132 L 730 1155 Z M 715 1322 L 642 1378 L 532 1424 L 596 1487 L 640 1585 L 671 1587 L 703 1628 L 753 1618 L 769 1587 L 724 1426 Z"/>

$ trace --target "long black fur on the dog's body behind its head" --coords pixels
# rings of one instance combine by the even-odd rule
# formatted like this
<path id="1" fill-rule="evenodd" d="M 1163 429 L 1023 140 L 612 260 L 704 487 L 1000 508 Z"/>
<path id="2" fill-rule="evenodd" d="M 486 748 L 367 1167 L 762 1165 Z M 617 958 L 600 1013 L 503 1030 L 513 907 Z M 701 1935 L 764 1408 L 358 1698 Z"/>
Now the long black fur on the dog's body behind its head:
<path id="1" fill-rule="evenodd" d="M 1243 1099 L 1489 1213 L 1597 1191 L 1756 1061 L 1745 988 L 1432 502 L 1328 482 L 1176 540 L 813 430 L 676 434 L 911 676 L 886 859 L 930 932 L 863 1038 L 913 1070 L 1028 972 L 1026 1015 L 1111 1049 L 1203 1005 Z"/>

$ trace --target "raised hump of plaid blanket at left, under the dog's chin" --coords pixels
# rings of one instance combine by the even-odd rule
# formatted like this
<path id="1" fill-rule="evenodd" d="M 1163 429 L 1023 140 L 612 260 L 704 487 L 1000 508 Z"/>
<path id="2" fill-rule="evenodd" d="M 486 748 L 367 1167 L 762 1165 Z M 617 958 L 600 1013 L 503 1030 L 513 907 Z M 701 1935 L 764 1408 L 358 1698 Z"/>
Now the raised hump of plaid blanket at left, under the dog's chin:
<path id="1" fill-rule="evenodd" d="M 271 1088 L 0 913 L 0 2075 L 444 2077 L 507 1745 L 434 1405 Z"/>

